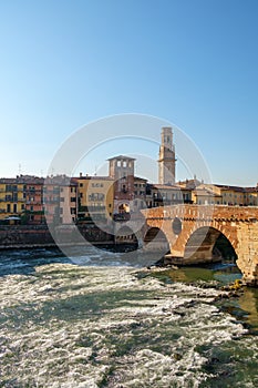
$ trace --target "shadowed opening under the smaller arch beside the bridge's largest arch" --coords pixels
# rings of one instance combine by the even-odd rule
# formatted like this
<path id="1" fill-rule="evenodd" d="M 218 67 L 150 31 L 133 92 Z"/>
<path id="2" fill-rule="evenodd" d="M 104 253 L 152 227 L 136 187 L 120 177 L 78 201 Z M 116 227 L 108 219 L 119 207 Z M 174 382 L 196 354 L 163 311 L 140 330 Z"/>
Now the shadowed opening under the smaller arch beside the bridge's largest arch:
<path id="1" fill-rule="evenodd" d="M 151 227 L 144 236 L 144 248 L 148 251 L 162 251 L 163 254 L 171 252 L 165 233 L 158 227 Z"/>

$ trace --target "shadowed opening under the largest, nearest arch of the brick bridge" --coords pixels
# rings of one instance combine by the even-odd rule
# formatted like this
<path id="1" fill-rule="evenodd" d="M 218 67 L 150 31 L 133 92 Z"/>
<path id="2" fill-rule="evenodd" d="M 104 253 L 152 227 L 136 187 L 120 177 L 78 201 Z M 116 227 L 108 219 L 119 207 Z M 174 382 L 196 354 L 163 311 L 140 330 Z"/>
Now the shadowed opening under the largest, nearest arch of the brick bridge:
<path id="1" fill-rule="evenodd" d="M 185 245 L 184 262 L 202 264 L 216 262 L 236 263 L 237 254 L 230 241 L 217 228 L 197 228 Z"/>

